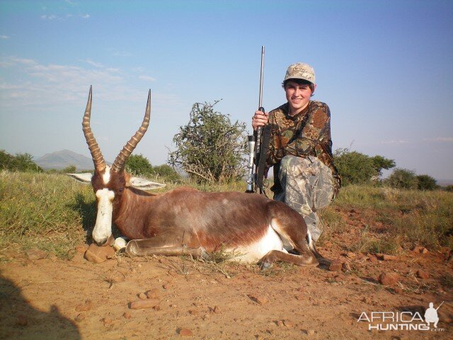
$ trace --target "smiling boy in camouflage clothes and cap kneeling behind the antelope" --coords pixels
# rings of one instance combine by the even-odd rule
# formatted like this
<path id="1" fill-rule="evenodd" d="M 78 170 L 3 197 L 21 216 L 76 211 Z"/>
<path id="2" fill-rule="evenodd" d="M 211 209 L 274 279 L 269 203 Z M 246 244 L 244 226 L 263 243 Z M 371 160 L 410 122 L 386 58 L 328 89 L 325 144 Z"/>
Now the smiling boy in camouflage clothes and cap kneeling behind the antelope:
<path id="1" fill-rule="evenodd" d="M 282 86 L 287 103 L 269 113 L 256 111 L 252 126 L 256 130 L 270 124 L 266 159 L 266 168 L 274 170 L 270 190 L 275 200 L 304 217 L 316 242 L 323 231 L 316 210 L 332 202 L 341 183 L 332 157 L 331 111 L 325 103 L 310 100 L 316 89 L 310 65 L 290 65 Z"/>

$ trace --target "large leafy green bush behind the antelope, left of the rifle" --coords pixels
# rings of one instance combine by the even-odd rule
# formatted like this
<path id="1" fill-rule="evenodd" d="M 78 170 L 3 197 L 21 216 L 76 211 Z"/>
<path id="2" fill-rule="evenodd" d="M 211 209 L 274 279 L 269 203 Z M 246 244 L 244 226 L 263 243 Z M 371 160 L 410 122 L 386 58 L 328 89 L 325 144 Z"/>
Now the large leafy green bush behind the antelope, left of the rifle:
<path id="1" fill-rule="evenodd" d="M 217 103 L 193 105 L 189 123 L 173 137 L 176 151 L 168 154 L 168 164 L 180 166 L 197 183 L 236 181 L 245 174 L 245 124 L 214 111 Z"/>

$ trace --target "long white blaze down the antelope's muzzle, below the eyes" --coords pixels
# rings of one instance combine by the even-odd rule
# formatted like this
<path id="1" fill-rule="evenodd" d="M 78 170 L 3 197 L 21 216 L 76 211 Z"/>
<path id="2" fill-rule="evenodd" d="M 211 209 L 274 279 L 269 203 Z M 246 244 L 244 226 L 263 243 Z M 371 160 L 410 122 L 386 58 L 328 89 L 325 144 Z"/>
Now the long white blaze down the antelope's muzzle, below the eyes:
<path id="1" fill-rule="evenodd" d="M 103 244 L 112 234 L 112 212 L 113 198 L 115 193 L 103 188 L 96 191 L 98 198 L 98 215 L 96 215 L 96 225 L 93 229 L 93 239 L 98 244 Z"/>

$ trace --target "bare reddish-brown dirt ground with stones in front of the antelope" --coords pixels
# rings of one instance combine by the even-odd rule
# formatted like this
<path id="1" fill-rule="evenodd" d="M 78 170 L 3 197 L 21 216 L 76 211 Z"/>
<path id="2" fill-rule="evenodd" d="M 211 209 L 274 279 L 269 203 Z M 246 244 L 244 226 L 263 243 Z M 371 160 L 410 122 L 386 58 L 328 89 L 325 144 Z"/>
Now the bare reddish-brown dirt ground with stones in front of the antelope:
<path id="1" fill-rule="evenodd" d="M 95 264 L 80 252 L 30 260 L 6 250 L 0 339 L 453 339 L 449 249 L 353 253 L 360 226 L 350 228 L 348 241 L 318 249 L 342 263 L 337 271 L 123 254 Z M 398 282 L 379 283 L 382 273 Z M 147 305 L 132 309 L 136 301 Z M 419 327 L 430 302 L 444 302 L 437 329 L 401 329 Z"/>

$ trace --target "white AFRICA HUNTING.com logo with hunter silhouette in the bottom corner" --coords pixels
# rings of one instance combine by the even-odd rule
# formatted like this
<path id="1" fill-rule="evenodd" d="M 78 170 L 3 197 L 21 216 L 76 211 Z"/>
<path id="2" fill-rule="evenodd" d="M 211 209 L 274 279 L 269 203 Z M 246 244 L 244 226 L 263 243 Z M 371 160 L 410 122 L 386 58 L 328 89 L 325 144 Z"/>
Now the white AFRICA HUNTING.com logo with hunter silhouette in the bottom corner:
<path id="1" fill-rule="evenodd" d="M 377 331 L 445 331 L 437 328 L 437 310 L 443 303 L 435 308 L 434 303 L 430 302 L 430 307 L 423 314 L 424 318 L 420 312 L 362 312 L 357 322 L 368 322 L 368 330 Z"/>

